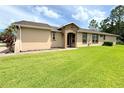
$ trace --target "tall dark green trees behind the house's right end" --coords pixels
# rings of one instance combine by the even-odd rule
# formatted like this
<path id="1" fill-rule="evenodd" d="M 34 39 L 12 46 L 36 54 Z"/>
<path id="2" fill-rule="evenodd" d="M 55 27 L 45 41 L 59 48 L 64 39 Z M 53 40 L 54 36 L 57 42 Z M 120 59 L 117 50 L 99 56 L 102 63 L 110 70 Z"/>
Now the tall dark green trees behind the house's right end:
<path id="1" fill-rule="evenodd" d="M 100 22 L 100 31 L 120 35 L 124 42 L 124 6 L 112 9 L 110 16 Z"/>

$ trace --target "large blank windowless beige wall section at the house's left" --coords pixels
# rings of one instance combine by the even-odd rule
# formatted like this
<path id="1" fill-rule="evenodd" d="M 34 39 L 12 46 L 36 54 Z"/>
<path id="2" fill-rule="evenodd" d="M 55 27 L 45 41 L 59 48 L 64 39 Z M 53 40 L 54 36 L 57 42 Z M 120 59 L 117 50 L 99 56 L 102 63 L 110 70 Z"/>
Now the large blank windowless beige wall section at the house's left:
<path id="1" fill-rule="evenodd" d="M 39 50 L 51 48 L 51 32 L 35 28 L 21 28 L 22 49 Z"/>

